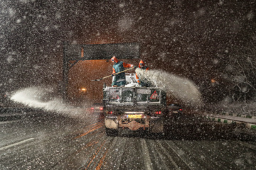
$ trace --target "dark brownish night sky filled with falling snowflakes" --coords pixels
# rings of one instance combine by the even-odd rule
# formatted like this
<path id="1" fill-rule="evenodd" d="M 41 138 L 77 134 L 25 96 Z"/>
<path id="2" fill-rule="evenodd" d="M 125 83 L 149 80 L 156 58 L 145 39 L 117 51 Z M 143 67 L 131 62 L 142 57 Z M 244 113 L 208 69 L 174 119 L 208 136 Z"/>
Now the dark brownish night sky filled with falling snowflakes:
<path id="1" fill-rule="evenodd" d="M 223 98 L 226 84 L 221 77 L 233 50 L 256 37 L 254 0 L 7 0 L 0 8 L 1 93 L 58 84 L 63 41 L 68 40 L 139 42 L 151 69 L 193 80 L 206 98 Z M 213 87 L 210 79 L 219 86 Z"/>

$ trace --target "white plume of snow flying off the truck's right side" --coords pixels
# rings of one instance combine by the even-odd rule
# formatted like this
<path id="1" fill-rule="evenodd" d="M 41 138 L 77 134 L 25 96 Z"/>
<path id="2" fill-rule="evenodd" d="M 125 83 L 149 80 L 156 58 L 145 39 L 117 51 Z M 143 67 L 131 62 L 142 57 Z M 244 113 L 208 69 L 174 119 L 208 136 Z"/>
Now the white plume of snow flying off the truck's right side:
<path id="1" fill-rule="evenodd" d="M 136 69 L 135 72 L 141 75 L 142 79 L 145 78 L 151 81 L 155 86 L 163 88 L 167 94 L 176 96 L 184 103 L 193 106 L 201 105 L 201 94 L 196 84 L 193 84 L 192 81 L 162 70 L 151 69 L 145 71 Z"/>

